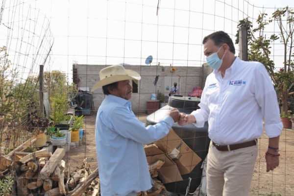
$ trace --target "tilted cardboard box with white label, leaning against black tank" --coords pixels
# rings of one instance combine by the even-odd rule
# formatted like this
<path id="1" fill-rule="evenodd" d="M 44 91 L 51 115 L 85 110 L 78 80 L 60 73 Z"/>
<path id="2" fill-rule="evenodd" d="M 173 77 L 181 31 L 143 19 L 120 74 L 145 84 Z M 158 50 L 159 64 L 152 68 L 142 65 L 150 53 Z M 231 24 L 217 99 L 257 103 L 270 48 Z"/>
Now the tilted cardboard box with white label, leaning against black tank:
<path id="1" fill-rule="evenodd" d="M 154 144 L 176 163 L 181 175 L 190 173 L 201 161 L 201 158 L 187 146 L 172 128 L 166 137 L 154 142 Z"/>

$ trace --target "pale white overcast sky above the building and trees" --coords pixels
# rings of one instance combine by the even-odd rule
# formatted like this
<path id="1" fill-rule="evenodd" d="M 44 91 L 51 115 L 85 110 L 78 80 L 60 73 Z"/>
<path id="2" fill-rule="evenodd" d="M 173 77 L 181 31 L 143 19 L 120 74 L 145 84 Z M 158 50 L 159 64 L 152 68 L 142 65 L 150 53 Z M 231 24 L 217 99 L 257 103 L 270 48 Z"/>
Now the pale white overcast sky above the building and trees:
<path id="1" fill-rule="evenodd" d="M 239 20 L 249 16 L 254 21 L 262 11 L 270 15 L 275 7 L 294 7 L 290 0 L 3 2 L 0 46 L 7 46 L 19 77 L 37 74 L 44 64 L 45 71 L 63 71 L 70 80 L 73 63 L 146 65 L 152 55 L 151 66 L 201 66 L 204 36 L 223 30 L 235 41 Z M 280 47 L 272 51 L 277 64 Z"/>

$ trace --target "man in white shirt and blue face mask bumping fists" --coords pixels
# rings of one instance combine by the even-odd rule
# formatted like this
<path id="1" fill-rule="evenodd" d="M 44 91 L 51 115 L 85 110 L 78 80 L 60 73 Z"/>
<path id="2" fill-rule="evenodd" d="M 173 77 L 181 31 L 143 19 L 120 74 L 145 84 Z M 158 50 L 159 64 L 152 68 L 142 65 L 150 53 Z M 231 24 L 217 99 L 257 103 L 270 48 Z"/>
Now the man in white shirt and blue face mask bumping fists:
<path id="1" fill-rule="evenodd" d="M 203 39 L 204 55 L 214 69 L 202 92 L 200 109 L 181 113 L 178 124 L 208 121 L 211 139 L 207 157 L 207 195 L 249 194 L 258 153 L 257 139 L 263 133 L 263 119 L 269 137 L 267 172 L 279 165 L 280 121 L 276 92 L 269 74 L 259 62 L 245 62 L 235 56 L 234 44 L 223 31 Z"/>

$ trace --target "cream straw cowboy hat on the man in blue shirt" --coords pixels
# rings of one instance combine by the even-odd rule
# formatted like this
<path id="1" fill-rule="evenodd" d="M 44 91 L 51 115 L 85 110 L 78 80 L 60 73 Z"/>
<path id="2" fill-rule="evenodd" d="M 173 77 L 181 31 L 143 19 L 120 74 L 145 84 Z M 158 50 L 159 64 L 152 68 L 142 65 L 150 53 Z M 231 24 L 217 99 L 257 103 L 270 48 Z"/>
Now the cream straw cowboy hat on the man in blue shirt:
<path id="1" fill-rule="evenodd" d="M 105 86 L 107 84 L 111 84 L 114 82 L 136 79 L 140 80 L 141 76 L 139 73 L 134 72 L 132 70 L 126 70 L 122 65 L 112 65 L 106 68 L 103 68 L 99 72 L 100 81 L 98 81 L 91 89 L 91 91 L 95 91 L 99 87 Z"/>

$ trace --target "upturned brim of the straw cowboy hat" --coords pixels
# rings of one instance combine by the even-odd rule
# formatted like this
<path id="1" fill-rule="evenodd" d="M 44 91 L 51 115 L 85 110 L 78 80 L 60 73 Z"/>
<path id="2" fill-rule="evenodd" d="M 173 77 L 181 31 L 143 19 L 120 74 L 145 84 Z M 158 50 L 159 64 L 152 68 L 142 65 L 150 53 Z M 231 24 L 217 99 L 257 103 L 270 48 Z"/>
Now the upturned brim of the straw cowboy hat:
<path id="1" fill-rule="evenodd" d="M 110 77 L 106 77 L 100 81 L 98 81 L 91 89 L 91 91 L 95 91 L 97 90 L 99 87 L 105 86 L 107 84 L 111 84 L 114 82 L 119 82 L 119 81 L 123 81 L 123 80 L 140 80 L 141 76 L 139 73 L 132 71 L 132 70 L 125 70 L 126 71 L 126 75 L 112 75 Z"/>

